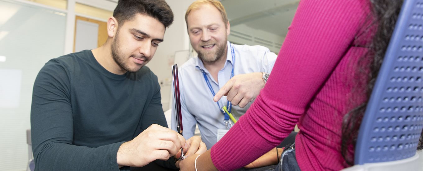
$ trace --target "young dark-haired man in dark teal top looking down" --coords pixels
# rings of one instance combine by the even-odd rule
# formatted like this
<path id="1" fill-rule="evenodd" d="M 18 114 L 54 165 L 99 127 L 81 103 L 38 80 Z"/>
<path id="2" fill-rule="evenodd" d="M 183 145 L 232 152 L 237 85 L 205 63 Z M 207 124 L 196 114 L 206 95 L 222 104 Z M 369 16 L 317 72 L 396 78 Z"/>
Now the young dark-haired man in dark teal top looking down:
<path id="1" fill-rule="evenodd" d="M 31 107 L 36 170 L 176 169 L 181 147 L 206 151 L 167 128 L 157 76 L 144 66 L 172 22 L 164 0 L 119 0 L 104 45 L 46 63 Z"/>

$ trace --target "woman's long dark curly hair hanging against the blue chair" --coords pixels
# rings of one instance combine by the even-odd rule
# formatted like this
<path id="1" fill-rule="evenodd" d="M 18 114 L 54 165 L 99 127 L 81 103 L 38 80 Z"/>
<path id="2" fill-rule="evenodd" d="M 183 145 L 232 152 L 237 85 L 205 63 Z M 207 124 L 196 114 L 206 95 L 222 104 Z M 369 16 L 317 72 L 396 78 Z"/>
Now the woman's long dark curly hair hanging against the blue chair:
<path id="1" fill-rule="evenodd" d="M 367 99 L 370 98 L 374 84 L 376 82 L 377 74 L 380 66 L 382 65 L 385 52 L 390 41 L 390 37 L 395 28 L 395 23 L 398 14 L 401 10 L 403 0 L 370 0 L 371 3 L 371 16 L 367 17 L 364 23 L 370 23 L 366 26 L 368 31 L 374 27 L 374 34 L 372 41 L 368 44 L 368 52 L 360 58 L 356 75 L 367 75 L 363 78 L 355 77 L 357 85 L 361 87 L 354 88 L 353 95 L 360 96 L 365 93 Z M 363 83 L 363 84 L 361 84 Z M 363 92 L 364 91 L 364 92 Z M 354 97 L 352 98 L 354 99 Z M 357 105 L 354 109 L 350 110 L 343 118 L 342 124 L 342 138 L 341 138 L 341 154 L 347 164 L 354 164 L 354 155 L 351 152 L 351 146 L 355 148 L 357 142 L 358 131 L 364 116 L 367 106 L 367 101 Z M 423 132 L 420 135 L 418 149 L 423 149 Z"/>

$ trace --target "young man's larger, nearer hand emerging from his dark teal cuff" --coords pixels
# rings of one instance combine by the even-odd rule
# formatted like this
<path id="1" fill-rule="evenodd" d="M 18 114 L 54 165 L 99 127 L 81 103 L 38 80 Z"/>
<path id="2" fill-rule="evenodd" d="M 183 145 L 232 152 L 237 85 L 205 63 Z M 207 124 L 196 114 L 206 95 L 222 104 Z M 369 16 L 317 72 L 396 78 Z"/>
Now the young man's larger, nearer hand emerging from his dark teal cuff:
<path id="1" fill-rule="evenodd" d="M 142 167 L 154 160 L 168 160 L 182 147 L 188 149 L 184 137 L 179 133 L 152 124 L 133 140 L 122 143 L 116 156 L 119 167 Z"/>

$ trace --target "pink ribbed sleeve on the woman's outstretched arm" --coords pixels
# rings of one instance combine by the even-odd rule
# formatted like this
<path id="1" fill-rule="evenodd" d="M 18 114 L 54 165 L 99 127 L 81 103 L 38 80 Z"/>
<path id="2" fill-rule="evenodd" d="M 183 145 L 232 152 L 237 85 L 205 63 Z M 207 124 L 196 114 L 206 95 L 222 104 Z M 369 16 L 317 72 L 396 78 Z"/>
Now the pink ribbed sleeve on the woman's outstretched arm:
<path id="1" fill-rule="evenodd" d="M 251 163 L 293 130 L 357 34 L 364 0 L 302 0 L 272 74 L 247 113 L 211 148 L 221 171 Z M 239 160 L 242 156 L 242 160 Z"/>

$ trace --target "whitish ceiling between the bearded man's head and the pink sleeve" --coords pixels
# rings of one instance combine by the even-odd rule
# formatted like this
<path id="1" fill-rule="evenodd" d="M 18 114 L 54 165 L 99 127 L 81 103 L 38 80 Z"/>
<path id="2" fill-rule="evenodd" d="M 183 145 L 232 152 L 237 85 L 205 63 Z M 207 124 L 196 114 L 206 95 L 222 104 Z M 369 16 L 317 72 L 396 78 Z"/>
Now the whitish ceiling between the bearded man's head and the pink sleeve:
<path id="1" fill-rule="evenodd" d="M 286 36 L 299 0 L 221 0 L 231 27 L 245 24 L 279 36 Z"/>

